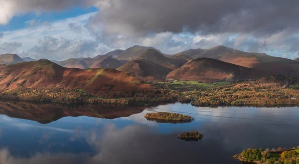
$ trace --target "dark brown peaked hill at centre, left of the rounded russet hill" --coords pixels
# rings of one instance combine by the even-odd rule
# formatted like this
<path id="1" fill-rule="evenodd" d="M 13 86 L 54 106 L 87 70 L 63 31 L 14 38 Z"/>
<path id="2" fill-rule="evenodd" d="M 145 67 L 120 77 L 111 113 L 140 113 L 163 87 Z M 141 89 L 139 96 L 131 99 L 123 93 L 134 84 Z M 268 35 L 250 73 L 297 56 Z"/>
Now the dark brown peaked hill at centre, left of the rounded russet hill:
<path id="1" fill-rule="evenodd" d="M 186 60 L 168 58 L 154 49 L 148 49 L 136 60 L 129 61 L 118 70 L 143 80 L 163 80 L 170 71 L 181 67 L 186 62 Z"/>

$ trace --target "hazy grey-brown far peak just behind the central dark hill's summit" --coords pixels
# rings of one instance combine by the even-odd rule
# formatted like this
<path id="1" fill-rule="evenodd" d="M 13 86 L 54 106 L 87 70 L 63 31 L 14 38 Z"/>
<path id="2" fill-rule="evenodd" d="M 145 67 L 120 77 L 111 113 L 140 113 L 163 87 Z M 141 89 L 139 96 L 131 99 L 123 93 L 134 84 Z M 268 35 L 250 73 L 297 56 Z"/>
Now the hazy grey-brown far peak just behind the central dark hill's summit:
<path id="1" fill-rule="evenodd" d="M 118 60 L 134 60 L 137 59 L 142 53 L 144 53 L 148 49 L 154 49 L 164 55 L 161 51 L 158 49 L 155 49 L 153 47 L 145 47 L 145 46 L 140 46 L 140 45 L 135 45 L 133 47 L 130 47 L 126 49 L 124 52 L 122 52 L 117 59 Z"/>

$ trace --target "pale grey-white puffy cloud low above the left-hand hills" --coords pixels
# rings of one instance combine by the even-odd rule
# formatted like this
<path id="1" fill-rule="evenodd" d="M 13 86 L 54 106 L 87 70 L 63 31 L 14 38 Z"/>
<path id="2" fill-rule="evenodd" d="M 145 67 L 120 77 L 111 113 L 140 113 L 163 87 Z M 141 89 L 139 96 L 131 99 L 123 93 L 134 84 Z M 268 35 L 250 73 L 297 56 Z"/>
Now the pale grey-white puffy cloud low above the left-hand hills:
<path id="1" fill-rule="evenodd" d="M 65 59 L 92 57 L 99 44 L 93 40 L 54 38 L 45 36 L 38 44 L 28 50 L 35 58 Z"/>

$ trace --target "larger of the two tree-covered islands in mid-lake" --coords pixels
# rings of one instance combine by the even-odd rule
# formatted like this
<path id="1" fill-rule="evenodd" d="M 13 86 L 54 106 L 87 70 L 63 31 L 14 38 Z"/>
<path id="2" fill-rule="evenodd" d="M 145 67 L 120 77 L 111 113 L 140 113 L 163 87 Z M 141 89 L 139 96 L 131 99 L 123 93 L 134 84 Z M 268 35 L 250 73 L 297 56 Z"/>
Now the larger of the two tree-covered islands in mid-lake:
<path id="1" fill-rule="evenodd" d="M 177 113 L 168 112 L 157 112 L 157 113 L 147 113 L 145 118 L 149 121 L 155 121 L 158 123 L 189 123 L 193 120 L 191 116 L 181 115 Z"/>

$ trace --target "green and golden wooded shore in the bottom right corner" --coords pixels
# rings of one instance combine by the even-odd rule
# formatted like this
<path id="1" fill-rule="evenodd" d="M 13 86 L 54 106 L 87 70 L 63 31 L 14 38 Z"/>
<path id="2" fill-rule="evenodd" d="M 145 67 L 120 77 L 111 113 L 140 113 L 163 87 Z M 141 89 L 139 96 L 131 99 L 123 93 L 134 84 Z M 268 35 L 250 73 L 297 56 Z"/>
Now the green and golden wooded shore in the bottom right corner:
<path id="1" fill-rule="evenodd" d="M 299 147 L 291 149 L 247 149 L 233 158 L 256 164 L 299 164 Z"/>

